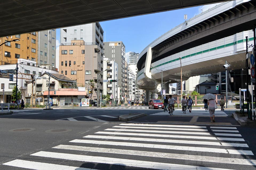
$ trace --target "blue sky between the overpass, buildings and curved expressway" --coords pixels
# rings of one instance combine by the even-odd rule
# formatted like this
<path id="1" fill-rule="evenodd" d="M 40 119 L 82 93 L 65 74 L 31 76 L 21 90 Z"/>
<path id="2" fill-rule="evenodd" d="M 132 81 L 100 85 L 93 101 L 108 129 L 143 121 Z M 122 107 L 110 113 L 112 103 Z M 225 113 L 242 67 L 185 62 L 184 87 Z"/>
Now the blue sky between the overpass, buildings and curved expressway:
<path id="1" fill-rule="evenodd" d="M 187 14 L 187 18 L 190 19 L 201 13 L 202 10 L 208 10 L 215 5 L 204 5 L 100 22 L 104 31 L 104 41 L 123 41 L 126 54 L 129 52 L 140 53 L 159 36 L 185 22 L 184 14 Z M 56 44 L 59 44 L 59 34 L 60 29 L 57 29 L 56 38 L 58 42 Z"/>

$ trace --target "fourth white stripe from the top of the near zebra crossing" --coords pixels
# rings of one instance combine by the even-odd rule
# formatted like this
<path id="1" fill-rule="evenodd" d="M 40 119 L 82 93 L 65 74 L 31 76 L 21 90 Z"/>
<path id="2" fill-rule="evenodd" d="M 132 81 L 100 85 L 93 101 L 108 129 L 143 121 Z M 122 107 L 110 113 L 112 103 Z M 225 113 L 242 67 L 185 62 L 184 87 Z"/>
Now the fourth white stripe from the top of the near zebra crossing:
<path id="1" fill-rule="evenodd" d="M 243 138 L 219 138 L 219 137 L 206 137 L 206 136 L 183 136 L 183 135 L 162 135 L 162 134 L 149 134 L 149 133 L 122 133 L 122 132 L 106 132 L 99 131 L 97 134 L 111 134 L 111 135 L 134 135 L 134 136 L 152 136 L 152 137 L 165 137 L 165 138 L 185 138 L 185 139 L 209 139 L 221 141 L 245 141 Z"/>

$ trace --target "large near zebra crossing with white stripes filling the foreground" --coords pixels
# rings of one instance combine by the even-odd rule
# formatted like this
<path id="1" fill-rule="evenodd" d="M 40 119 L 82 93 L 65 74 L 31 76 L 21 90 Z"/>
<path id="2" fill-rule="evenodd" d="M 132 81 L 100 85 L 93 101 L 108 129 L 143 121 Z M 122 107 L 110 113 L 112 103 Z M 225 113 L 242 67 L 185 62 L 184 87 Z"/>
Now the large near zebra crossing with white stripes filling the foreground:
<path id="1" fill-rule="evenodd" d="M 256 165 L 246 141 L 231 126 L 122 123 L 26 158 L 3 165 L 37 170 L 250 170 Z"/>

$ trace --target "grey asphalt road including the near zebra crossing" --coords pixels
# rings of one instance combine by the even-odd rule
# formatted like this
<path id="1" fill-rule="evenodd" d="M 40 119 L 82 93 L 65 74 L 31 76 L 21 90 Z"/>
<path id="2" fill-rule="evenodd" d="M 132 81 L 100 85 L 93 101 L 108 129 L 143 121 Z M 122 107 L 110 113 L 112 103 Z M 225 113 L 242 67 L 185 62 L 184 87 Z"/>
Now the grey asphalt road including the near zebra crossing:
<path id="1" fill-rule="evenodd" d="M 133 124 L 115 118 L 139 112 L 162 110 L 27 109 L 0 116 L 0 169 L 256 169 L 255 127 Z"/>

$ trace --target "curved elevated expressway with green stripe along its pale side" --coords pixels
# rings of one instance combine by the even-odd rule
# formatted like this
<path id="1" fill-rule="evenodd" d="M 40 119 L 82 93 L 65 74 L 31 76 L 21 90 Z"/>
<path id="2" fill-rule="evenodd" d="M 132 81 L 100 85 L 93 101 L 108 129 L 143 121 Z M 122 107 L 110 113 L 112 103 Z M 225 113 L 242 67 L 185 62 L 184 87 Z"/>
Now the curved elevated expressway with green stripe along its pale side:
<path id="1" fill-rule="evenodd" d="M 224 71 L 226 60 L 231 70 L 244 68 L 245 37 L 252 44 L 255 6 L 255 0 L 221 3 L 153 41 L 138 57 L 136 86 L 149 92 L 161 77 L 163 82 L 180 82 L 179 57 L 182 80 Z"/>

